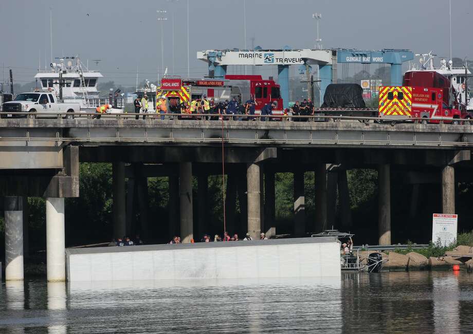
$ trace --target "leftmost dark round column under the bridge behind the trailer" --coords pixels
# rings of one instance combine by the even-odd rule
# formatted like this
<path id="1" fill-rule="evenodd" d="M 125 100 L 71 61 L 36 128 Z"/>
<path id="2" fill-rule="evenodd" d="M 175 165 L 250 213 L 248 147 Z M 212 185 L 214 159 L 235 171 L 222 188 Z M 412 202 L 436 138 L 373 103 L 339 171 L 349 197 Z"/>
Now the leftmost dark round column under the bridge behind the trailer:
<path id="1" fill-rule="evenodd" d="M 113 236 L 115 239 L 128 235 L 126 231 L 125 205 L 125 164 L 114 162 L 112 165 L 113 187 Z"/>

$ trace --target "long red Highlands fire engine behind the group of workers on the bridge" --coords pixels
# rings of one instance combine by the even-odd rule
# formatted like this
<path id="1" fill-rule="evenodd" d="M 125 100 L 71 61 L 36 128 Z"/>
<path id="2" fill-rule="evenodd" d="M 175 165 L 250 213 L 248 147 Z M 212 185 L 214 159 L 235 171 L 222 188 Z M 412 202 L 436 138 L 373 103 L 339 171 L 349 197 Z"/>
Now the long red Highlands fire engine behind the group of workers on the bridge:
<path id="1" fill-rule="evenodd" d="M 156 96 L 166 98 L 168 106 L 177 102 L 173 99 L 190 103 L 194 99 L 202 99 L 204 95 L 209 100 L 213 98 L 215 103 L 236 98 L 243 104 L 254 98 L 257 115 L 266 103 L 276 102 L 273 114 L 283 114 L 280 86 L 274 80 L 263 80 L 261 76 L 227 75 L 223 80 L 166 78 L 161 80 L 161 86 L 156 89 Z"/>

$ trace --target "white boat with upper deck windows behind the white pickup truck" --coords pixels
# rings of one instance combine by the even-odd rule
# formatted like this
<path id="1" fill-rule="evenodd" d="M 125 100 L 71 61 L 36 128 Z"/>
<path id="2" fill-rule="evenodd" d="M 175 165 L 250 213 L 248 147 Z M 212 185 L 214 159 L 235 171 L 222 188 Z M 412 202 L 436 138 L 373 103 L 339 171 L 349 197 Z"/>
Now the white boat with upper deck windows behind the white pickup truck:
<path id="1" fill-rule="evenodd" d="M 62 72 L 63 102 L 80 103 L 82 111 L 95 112 L 96 107 L 110 104 L 112 100 L 113 108 L 108 112 L 123 112 L 123 95 L 119 95 L 119 92 L 114 92 L 112 97 L 110 95 L 100 97 L 100 91 L 97 90 L 98 80 L 103 78 L 100 71 L 89 70 L 81 63 L 79 57 L 63 57 L 58 58 L 58 61 L 58 63 L 51 63 L 50 69 L 40 70 L 34 76 L 41 83 L 39 90 L 54 91 L 59 98 L 59 79 Z"/>

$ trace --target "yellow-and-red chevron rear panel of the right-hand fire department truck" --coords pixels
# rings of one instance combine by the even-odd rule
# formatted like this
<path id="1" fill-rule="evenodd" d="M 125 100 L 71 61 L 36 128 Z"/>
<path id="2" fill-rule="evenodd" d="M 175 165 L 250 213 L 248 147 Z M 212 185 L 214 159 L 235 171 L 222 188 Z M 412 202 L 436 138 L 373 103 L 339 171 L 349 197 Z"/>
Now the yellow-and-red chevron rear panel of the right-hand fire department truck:
<path id="1" fill-rule="evenodd" d="M 379 116 L 411 117 L 412 87 L 379 87 Z"/>

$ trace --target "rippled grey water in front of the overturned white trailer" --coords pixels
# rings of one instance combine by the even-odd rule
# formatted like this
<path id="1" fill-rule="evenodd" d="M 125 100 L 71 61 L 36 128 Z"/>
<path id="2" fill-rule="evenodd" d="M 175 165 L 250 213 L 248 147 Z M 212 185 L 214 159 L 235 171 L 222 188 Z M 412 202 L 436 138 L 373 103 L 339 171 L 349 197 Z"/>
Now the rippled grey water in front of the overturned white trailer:
<path id="1" fill-rule="evenodd" d="M 0 289 L 0 332 L 473 331 L 473 275 L 329 280 L 46 284 Z"/>

